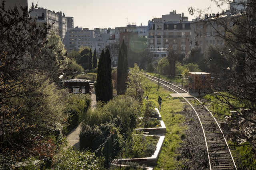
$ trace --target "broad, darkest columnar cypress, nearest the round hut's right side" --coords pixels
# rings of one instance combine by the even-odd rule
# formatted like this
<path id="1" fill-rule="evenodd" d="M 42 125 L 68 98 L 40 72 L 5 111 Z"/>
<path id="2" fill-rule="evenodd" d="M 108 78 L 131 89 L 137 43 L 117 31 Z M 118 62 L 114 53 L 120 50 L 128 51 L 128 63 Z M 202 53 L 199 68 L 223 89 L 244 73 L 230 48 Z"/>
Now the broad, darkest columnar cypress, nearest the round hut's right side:
<path id="1" fill-rule="evenodd" d="M 100 55 L 98 63 L 97 81 L 95 84 L 96 100 L 101 102 L 108 102 L 112 99 L 112 79 L 111 79 L 111 59 L 110 53 L 107 49 Z"/>

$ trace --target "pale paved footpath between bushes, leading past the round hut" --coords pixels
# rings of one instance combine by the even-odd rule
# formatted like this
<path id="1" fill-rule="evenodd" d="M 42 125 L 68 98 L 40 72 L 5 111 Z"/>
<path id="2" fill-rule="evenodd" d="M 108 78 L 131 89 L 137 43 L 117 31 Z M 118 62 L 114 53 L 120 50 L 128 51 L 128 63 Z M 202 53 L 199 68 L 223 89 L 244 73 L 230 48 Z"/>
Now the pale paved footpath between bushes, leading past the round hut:
<path id="1" fill-rule="evenodd" d="M 95 95 L 95 92 L 93 92 L 92 94 L 92 105 L 91 105 L 91 108 L 94 109 L 96 108 L 97 106 L 97 103 L 96 103 L 96 95 Z M 68 145 L 70 147 L 75 147 L 77 150 L 79 150 L 80 148 L 80 143 L 79 143 L 79 133 L 81 131 L 81 124 L 76 127 L 75 129 L 73 129 L 70 134 L 67 136 L 67 141 L 69 142 Z"/>

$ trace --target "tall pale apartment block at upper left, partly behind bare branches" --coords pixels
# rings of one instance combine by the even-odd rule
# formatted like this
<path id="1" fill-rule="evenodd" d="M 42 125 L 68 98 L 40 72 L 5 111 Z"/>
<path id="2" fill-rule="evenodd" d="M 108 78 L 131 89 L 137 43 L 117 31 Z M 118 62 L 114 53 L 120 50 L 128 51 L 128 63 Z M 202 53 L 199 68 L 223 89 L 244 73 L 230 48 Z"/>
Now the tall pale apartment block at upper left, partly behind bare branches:
<path id="1" fill-rule="evenodd" d="M 33 3 L 32 3 L 33 6 Z M 36 18 L 39 23 L 49 23 L 53 24 L 52 30 L 56 31 L 63 42 L 66 41 L 65 35 L 67 32 L 67 18 L 65 14 L 62 12 L 54 12 L 43 7 L 34 9 L 30 13 L 30 17 Z"/>

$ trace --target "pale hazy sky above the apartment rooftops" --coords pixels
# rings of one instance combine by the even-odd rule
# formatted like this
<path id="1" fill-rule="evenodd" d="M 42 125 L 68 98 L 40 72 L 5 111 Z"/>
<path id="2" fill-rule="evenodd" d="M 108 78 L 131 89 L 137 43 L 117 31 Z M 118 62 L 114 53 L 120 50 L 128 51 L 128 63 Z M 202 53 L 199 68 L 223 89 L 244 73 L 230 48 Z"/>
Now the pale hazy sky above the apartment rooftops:
<path id="1" fill-rule="evenodd" d="M 152 18 L 161 18 L 174 10 L 176 14 L 183 12 L 192 21 L 196 16 L 189 14 L 190 7 L 202 10 L 211 7 L 209 14 L 228 9 L 228 4 L 220 9 L 211 0 L 28 0 L 28 8 L 32 2 L 74 17 L 74 27 L 89 29 L 125 27 L 127 23 L 148 25 Z"/>

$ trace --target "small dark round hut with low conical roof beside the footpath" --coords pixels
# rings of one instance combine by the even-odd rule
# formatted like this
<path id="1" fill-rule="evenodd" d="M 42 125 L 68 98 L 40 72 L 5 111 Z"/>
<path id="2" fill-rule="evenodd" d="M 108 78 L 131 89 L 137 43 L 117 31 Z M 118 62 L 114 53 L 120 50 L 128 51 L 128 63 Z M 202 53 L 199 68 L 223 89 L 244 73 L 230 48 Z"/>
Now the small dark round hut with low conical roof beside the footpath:
<path id="1" fill-rule="evenodd" d="M 61 82 L 63 82 L 64 86 L 70 89 L 72 93 L 90 93 L 91 80 L 74 78 L 62 80 Z"/>

